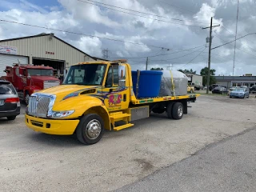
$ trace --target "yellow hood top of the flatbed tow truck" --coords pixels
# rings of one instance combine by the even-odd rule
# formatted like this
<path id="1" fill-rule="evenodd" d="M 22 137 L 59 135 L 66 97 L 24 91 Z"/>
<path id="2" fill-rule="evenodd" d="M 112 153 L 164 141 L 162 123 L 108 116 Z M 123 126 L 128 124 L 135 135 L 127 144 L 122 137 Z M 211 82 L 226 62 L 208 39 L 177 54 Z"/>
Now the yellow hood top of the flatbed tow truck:
<path id="1" fill-rule="evenodd" d="M 54 86 L 46 90 L 41 90 L 38 93 L 56 95 L 56 102 L 65 98 L 75 97 L 86 90 L 93 90 L 99 86 L 79 86 L 79 85 L 60 85 Z"/>

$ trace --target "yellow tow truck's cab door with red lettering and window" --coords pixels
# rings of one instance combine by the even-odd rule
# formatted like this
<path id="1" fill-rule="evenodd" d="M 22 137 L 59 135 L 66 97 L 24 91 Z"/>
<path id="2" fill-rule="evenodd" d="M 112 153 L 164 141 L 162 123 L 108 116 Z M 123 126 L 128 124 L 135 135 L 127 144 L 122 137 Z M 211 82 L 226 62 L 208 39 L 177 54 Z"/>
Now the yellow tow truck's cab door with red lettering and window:
<path id="1" fill-rule="evenodd" d="M 103 92 L 106 94 L 104 103 L 109 111 L 126 110 L 129 106 L 130 90 L 126 86 L 127 70 L 125 64 L 121 64 L 121 66 L 122 70 L 118 64 L 111 65 L 106 75 Z M 119 80 L 124 83 L 119 85 Z"/>

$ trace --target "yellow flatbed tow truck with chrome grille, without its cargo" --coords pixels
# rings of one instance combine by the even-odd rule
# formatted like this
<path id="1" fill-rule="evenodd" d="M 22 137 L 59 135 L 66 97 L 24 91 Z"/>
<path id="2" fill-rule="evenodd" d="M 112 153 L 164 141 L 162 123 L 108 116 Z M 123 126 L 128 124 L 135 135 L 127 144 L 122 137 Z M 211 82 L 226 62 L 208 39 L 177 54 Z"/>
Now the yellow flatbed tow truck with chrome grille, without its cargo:
<path id="1" fill-rule="evenodd" d="M 126 60 L 80 62 L 70 67 L 62 85 L 31 95 L 26 126 L 46 134 L 76 134 L 80 142 L 90 145 L 102 138 L 104 130 L 129 128 L 150 112 L 181 119 L 187 114 L 187 103 L 195 102 L 199 94 L 136 96 Z"/>

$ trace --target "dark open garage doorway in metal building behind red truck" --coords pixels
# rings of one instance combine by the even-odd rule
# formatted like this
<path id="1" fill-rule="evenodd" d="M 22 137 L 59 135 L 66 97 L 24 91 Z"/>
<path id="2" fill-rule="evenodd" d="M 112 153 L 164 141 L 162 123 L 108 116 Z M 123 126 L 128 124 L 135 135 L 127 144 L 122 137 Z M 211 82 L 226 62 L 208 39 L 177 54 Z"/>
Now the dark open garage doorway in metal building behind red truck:
<path id="1" fill-rule="evenodd" d="M 51 66 L 54 68 L 54 76 L 58 75 L 58 70 L 61 74 L 61 78 L 64 74 L 65 69 L 65 61 L 62 60 L 50 60 L 50 59 L 43 59 L 43 58 L 33 58 L 34 66 Z"/>

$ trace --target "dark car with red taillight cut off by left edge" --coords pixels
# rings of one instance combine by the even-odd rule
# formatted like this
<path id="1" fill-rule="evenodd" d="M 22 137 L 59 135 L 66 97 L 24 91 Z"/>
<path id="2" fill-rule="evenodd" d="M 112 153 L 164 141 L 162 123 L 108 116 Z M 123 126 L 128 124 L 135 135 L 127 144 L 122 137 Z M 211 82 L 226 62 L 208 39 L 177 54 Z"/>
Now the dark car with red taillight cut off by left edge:
<path id="1" fill-rule="evenodd" d="M 0 80 L 0 118 L 14 120 L 20 114 L 21 103 L 14 86 L 5 80 Z"/>

